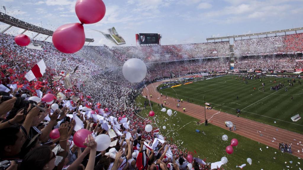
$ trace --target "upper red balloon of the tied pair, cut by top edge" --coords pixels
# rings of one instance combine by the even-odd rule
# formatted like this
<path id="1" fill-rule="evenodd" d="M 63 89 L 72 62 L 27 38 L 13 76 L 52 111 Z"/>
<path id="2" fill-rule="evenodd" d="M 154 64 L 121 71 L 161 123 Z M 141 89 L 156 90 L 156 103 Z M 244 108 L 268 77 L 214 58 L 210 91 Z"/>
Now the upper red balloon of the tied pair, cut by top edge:
<path id="1" fill-rule="evenodd" d="M 102 0 L 78 0 L 75 11 L 81 23 L 93 24 L 102 20 L 106 9 Z"/>

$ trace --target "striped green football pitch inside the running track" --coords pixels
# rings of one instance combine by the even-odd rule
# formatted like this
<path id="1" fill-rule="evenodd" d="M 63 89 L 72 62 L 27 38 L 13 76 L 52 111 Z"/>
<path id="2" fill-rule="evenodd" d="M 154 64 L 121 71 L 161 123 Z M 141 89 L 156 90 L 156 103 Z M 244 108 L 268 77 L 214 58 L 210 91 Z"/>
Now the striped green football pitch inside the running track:
<path id="1" fill-rule="evenodd" d="M 160 90 L 160 93 L 183 99 L 204 106 L 205 101 L 211 103 L 215 110 L 236 114 L 235 109 L 240 109 L 239 116 L 252 119 L 265 124 L 303 133 L 303 120 L 293 122 L 291 117 L 303 112 L 303 85 L 298 80 L 293 87 L 288 86 L 286 78 L 266 77 L 265 91 L 262 91 L 262 82 L 248 80 L 248 84 L 241 82 L 238 76 L 222 76 L 209 80 L 200 80 L 187 85 Z M 284 88 L 278 91 L 270 90 L 274 86 L 270 81 L 284 83 Z M 303 80 L 302 80 L 303 81 Z M 276 83 L 276 84 L 277 84 Z M 253 90 L 254 87 L 256 90 Z M 288 91 L 285 91 L 285 88 Z M 238 96 L 238 100 L 237 100 Z M 291 100 L 291 96 L 293 100 Z M 275 123 L 276 122 L 276 123 Z"/>

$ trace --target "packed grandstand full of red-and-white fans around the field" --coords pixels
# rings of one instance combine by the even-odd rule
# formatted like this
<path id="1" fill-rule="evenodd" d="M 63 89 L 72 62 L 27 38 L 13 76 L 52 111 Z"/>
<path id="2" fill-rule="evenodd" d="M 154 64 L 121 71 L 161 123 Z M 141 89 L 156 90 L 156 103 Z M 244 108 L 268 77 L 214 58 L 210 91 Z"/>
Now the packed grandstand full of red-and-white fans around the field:
<path id="1" fill-rule="evenodd" d="M 181 77 L 191 73 L 231 71 L 303 71 L 303 33 L 236 40 L 233 60 L 229 41 L 137 47 L 84 46 L 77 53 L 65 54 L 51 42 L 32 40 L 44 44 L 42 50 L 37 50 L 18 46 L 14 38 L 0 34 L 1 98 L 14 96 L 19 100 L 18 104 L 15 103 L 17 98 L 1 100 L 0 134 L 7 140 L 0 140 L 0 156 L 1 161 L 19 161 L 20 169 L 24 170 L 55 166 L 58 170 L 94 167 L 143 170 L 148 166 L 152 170 L 211 169 L 211 162 L 198 158 L 190 160 L 192 158 L 186 156 L 184 150 L 158 134 L 157 129 L 145 132 L 148 122 L 136 114 L 140 108 L 134 104 L 142 87 L 156 80 L 173 78 L 172 74 Z M 130 58 L 142 59 L 146 64 L 147 75 L 141 83 L 130 83 L 121 74 L 124 62 Z M 28 81 L 25 75 L 42 59 L 46 66 L 43 77 Z M 71 84 L 67 85 L 69 78 Z M 49 108 L 40 112 L 34 107 L 27 110 L 25 117 L 20 97 L 28 100 L 31 96 L 42 98 L 47 94 L 55 95 L 52 102 L 58 104 L 59 111 Z M 42 103 L 42 106 L 47 108 L 51 104 Z M 58 116 L 53 114 L 56 112 Z M 98 119 L 92 116 L 95 114 Z M 110 135 L 111 146 L 96 152 L 97 144 L 88 137 L 85 140 L 87 149 L 81 150 L 73 142 L 74 128 L 79 128 L 79 124 L 80 129 L 87 129 L 95 136 L 111 133 L 114 136 Z M 115 132 L 108 132 L 111 128 Z M 55 129 L 57 137 L 52 136 Z M 152 141 L 158 141 L 159 145 L 152 146 Z M 49 145 L 52 150 L 47 147 Z M 57 148 L 55 152 L 54 147 Z M 42 163 L 41 157 L 45 158 Z M 60 157 L 66 160 L 57 162 Z M 49 163 L 51 161 L 53 163 Z"/>

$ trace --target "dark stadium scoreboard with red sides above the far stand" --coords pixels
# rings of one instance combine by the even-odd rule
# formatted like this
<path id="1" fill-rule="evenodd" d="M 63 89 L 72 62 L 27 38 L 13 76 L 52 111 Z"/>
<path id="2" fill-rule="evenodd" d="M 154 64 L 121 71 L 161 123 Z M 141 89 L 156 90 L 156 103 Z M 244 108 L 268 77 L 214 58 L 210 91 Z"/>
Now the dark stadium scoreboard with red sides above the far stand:
<path id="1" fill-rule="evenodd" d="M 146 34 L 140 33 L 136 34 L 136 44 L 137 45 L 161 45 L 161 38 L 160 34 Z"/>

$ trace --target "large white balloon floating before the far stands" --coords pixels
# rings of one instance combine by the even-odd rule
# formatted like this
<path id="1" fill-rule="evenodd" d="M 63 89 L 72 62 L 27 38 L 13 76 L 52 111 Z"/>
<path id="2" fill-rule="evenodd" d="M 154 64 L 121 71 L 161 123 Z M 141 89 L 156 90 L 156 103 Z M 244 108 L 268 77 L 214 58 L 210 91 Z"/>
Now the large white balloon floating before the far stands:
<path id="1" fill-rule="evenodd" d="M 140 83 L 145 78 L 147 69 L 142 60 L 131 58 L 123 64 L 122 73 L 126 80 L 132 83 Z"/>

